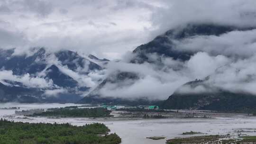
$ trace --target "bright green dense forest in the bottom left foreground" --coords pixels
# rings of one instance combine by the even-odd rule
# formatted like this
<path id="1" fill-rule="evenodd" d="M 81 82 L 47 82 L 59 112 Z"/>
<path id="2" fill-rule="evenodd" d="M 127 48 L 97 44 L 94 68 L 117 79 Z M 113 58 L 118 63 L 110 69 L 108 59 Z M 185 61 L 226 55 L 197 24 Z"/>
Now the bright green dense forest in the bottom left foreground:
<path id="1" fill-rule="evenodd" d="M 0 119 L 0 144 L 119 144 L 116 134 L 99 123 L 66 124 L 22 123 Z"/>

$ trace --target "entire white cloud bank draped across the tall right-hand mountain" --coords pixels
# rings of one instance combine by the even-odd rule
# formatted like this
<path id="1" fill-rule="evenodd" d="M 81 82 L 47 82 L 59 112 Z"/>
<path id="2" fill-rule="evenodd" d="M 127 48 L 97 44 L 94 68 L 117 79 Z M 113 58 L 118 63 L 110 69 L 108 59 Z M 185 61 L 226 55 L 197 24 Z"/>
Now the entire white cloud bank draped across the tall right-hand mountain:
<path id="1" fill-rule="evenodd" d="M 127 63 L 134 57 L 125 55 L 124 61 L 110 63 L 112 72 L 135 72 L 140 79 L 126 87 L 119 83 L 108 83 L 101 94 L 106 97 L 166 99 L 177 88 L 188 81 L 205 79 L 215 88 L 256 94 L 256 31 L 232 31 L 220 36 L 191 36 L 175 40 L 174 48 L 192 51 L 190 60 L 181 62 L 156 54 L 148 55 L 155 63 Z M 164 63 L 164 65 L 162 65 Z M 201 92 L 206 88 L 196 87 L 190 92 Z"/>

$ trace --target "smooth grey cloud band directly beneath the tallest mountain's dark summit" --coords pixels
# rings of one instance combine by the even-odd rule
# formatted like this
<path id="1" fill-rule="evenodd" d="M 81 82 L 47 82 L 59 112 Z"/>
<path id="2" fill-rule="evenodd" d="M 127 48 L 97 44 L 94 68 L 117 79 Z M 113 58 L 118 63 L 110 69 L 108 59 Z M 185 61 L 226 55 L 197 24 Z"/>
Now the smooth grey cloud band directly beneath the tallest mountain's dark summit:
<path id="1" fill-rule="evenodd" d="M 173 42 L 178 51 L 202 51 L 212 55 L 249 57 L 256 53 L 256 29 L 231 31 L 220 36 L 192 36 Z"/>

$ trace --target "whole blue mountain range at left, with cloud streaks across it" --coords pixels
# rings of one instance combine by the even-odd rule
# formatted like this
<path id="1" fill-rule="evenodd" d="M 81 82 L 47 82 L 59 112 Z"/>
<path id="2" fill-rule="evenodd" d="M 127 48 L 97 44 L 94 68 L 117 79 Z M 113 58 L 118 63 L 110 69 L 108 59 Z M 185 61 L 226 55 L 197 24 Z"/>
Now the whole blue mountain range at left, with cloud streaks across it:
<path id="1" fill-rule="evenodd" d="M 1 71 L 12 72 L 12 76 L 0 80 L 0 102 L 77 102 L 91 89 L 80 78 L 104 69 L 68 50 L 52 53 L 34 48 L 29 54 L 14 52 L 0 49 Z"/>

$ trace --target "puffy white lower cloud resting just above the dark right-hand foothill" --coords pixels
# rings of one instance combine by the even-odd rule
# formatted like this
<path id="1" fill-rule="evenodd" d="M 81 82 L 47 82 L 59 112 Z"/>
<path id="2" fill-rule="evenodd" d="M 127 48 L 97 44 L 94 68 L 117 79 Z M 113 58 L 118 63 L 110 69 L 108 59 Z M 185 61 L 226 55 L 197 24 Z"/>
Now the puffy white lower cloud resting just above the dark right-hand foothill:
<path id="1" fill-rule="evenodd" d="M 171 66 L 168 67 L 165 64 L 164 67 L 161 66 L 161 69 L 159 69 L 159 65 L 152 63 L 119 62 L 110 64 L 108 67 L 110 70 L 134 72 L 140 78 L 125 84 L 125 86 L 122 86 L 122 81 L 107 83 L 101 89 L 101 95 L 103 97 L 131 99 L 142 97 L 167 99 L 175 90 L 180 93 L 201 93 L 219 89 L 256 95 L 256 90 L 254 89 L 256 85 L 256 68 L 253 67 L 253 65 L 256 65 L 255 54 L 247 58 L 234 58 L 221 54 L 211 56 L 206 52 L 198 52 L 186 62 L 177 60 L 175 63 L 171 58 L 162 59 L 171 62 Z M 179 69 L 176 67 L 179 67 Z M 183 89 L 178 89 L 188 81 L 204 80 L 208 76 L 209 80 L 206 81 L 207 88 L 200 85 L 195 88 L 187 86 L 183 87 Z"/>

